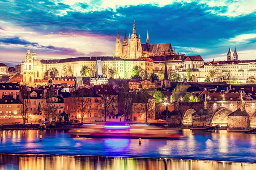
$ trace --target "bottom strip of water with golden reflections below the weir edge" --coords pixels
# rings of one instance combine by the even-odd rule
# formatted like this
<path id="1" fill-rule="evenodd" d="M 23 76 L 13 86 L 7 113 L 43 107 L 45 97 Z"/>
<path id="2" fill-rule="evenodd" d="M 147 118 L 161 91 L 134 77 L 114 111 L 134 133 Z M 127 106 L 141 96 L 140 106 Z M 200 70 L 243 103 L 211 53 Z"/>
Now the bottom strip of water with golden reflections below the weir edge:
<path id="1" fill-rule="evenodd" d="M 256 164 L 192 159 L 0 155 L 1 170 L 255 170 Z"/>

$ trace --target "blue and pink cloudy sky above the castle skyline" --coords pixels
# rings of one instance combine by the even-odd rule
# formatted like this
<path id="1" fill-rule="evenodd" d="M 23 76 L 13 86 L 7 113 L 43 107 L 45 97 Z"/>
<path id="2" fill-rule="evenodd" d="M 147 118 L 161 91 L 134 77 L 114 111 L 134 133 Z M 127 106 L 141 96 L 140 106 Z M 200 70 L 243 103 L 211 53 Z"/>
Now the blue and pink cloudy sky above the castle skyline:
<path id="1" fill-rule="evenodd" d="M 0 0 L 0 62 L 20 64 L 28 45 L 38 59 L 113 56 L 117 29 L 176 52 L 256 59 L 256 0 Z"/>

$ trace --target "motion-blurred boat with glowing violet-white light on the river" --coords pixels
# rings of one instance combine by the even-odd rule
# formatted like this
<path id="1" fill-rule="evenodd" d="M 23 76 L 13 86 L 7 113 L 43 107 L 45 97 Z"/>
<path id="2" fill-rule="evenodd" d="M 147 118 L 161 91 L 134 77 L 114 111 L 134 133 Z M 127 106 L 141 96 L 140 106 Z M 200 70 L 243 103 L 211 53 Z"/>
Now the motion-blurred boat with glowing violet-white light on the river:
<path id="1" fill-rule="evenodd" d="M 70 135 L 90 138 L 130 138 L 130 139 L 179 139 L 183 136 L 180 129 L 148 126 L 145 124 L 131 125 L 96 125 L 86 124 L 81 128 L 69 130 Z"/>

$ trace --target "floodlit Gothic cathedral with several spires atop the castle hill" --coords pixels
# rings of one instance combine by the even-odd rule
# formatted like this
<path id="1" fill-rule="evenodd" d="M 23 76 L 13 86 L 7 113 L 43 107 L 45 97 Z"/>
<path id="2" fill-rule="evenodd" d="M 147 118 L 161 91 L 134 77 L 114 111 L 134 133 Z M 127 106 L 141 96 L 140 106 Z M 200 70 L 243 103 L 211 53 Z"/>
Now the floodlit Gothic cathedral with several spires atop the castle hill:
<path id="1" fill-rule="evenodd" d="M 151 57 L 151 56 L 163 56 L 163 55 L 176 55 L 175 50 L 172 49 L 172 45 L 170 43 L 162 43 L 162 44 L 150 44 L 149 36 L 147 34 L 146 44 L 142 44 L 139 37 L 137 35 L 136 24 L 134 20 L 134 27 L 132 34 L 128 37 L 126 36 L 121 42 L 119 30 L 117 31 L 116 37 L 116 45 L 115 45 L 115 57 L 120 57 L 122 59 L 137 59 L 140 57 Z"/>

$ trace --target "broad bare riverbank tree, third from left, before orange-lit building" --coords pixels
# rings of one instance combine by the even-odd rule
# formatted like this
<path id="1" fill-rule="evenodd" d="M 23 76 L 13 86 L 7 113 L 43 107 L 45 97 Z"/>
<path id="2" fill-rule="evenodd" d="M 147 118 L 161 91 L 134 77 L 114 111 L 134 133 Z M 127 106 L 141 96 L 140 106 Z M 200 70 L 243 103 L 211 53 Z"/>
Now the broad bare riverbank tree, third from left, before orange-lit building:
<path id="1" fill-rule="evenodd" d="M 84 116 L 87 113 L 90 113 L 92 96 L 93 93 L 88 88 L 79 88 L 78 90 L 73 91 L 71 94 L 74 105 L 73 112 L 80 114 L 81 122 L 83 121 Z"/>

